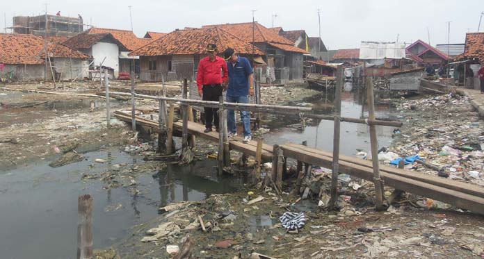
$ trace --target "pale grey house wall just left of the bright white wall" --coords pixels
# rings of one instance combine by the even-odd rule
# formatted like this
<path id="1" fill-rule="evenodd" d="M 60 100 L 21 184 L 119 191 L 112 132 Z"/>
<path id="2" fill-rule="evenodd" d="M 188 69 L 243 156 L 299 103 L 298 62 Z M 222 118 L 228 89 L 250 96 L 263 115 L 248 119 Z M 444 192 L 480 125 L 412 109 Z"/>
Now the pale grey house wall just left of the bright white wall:
<path id="1" fill-rule="evenodd" d="M 78 78 L 80 79 L 89 76 L 88 71 L 84 71 L 89 65 L 87 60 L 81 60 L 79 58 L 54 58 L 53 61 L 55 71 L 58 73 L 58 76 L 61 76 L 62 81 L 72 80 L 77 75 L 79 75 Z"/>

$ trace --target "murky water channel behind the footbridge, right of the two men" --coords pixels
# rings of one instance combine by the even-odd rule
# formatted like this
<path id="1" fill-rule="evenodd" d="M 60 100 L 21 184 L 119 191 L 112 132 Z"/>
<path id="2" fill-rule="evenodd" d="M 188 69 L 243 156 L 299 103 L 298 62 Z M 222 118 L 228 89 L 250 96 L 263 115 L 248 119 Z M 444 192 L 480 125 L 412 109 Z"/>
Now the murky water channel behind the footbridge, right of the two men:
<path id="1" fill-rule="evenodd" d="M 353 85 L 346 83 L 344 91 L 341 94 L 341 116 L 362 118 L 368 117 L 368 109 L 364 100 L 366 94 L 362 89 L 353 89 Z M 375 113 L 379 119 L 396 119 L 394 117 L 395 109 L 382 97 L 385 94 L 378 94 L 376 97 Z M 318 112 L 330 115 L 333 112 L 333 92 L 323 92 L 310 100 L 303 101 L 307 106 L 312 106 Z M 307 122 L 304 129 L 300 128 L 301 119 L 298 116 L 266 116 L 262 118 L 266 121 L 263 126 L 271 128 L 271 135 L 264 140 L 269 144 L 284 144 L 284 142 L 293 142 L 300 144 L 307 141 L 309 147 L 316 147 L 325 151 L 332 151 L 333 145 L 333 126 L 334 122 L 321 120 L 319 122 Z M 288 128 L 286 125 L 295 124 Z M 387 146 L 392 142 L 393 127 L 377 126 L 376 133 L 378 136 L 379 147 Z M 369 126 L 366 124 L 354 124 L 341 122 L 340 133 L 340 151 L 341 153 L 354 156 L 357 150 L 370 153 L 370 135 Z"/>

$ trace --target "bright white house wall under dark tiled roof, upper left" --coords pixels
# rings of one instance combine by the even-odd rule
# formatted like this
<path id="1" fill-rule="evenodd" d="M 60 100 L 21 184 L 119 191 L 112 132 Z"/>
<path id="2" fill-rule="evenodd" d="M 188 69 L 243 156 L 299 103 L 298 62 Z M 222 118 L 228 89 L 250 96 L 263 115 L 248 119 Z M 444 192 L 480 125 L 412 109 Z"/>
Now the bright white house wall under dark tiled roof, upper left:
<path id="1" fill-rule="evenodd" d="M 114 76 L 115 78 L 118 78 L 120 72 L 120 53 L 118 45 L 114 43 L 97 42 L 92 45 L 91 55 L 94 58 L 95 65 L 100 65 L 104 57 L 106 57 L 106 60 L 104 60 L 102 65 L 114 69 Z"/>

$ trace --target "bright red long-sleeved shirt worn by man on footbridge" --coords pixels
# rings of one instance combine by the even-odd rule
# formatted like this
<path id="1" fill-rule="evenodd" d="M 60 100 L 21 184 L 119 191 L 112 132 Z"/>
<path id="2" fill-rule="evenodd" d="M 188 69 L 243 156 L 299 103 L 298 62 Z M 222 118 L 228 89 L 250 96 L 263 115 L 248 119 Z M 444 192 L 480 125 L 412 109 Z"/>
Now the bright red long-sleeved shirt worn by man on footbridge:
<path id="1" fill-rule="evenodd" d="M 198 64 L 198 90 L 201 91 L 203 85 L 223 83 L 227 80 L 227 76 L 227 62 L 223 58 L 217 56 L 213 61 L 210 61 L 209 57 L 202 58 Z"/>

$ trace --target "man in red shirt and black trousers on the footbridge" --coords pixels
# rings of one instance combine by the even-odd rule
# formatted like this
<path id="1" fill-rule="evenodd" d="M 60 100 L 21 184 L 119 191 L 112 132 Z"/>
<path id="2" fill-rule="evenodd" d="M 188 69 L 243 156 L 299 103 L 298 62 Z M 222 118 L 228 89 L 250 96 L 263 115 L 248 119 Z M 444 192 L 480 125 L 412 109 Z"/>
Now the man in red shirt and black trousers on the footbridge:
<path id="1" fill-rule="evenodd" d="M 218 101 L 222 96 L 222 84 L 227 81 L 227 63 L 217 56 L 217 45 L 207 45 L 207 57 L 200 60 L 197 72 L 198 94 L 204 101 Z M 205 133 L 212 131 L 212 120 L 218 131 L 218 108 L 204 107 Z"/>

